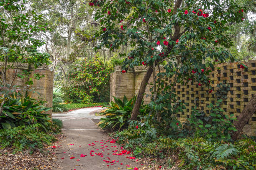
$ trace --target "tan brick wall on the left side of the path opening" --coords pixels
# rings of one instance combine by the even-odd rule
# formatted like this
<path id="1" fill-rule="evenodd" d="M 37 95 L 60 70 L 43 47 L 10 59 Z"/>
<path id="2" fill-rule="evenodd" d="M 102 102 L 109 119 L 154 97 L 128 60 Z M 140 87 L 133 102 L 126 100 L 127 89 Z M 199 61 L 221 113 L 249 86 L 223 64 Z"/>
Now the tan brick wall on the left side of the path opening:
<path id="1" fill-rule="evenodd" d="M 3 65 L 3 62 L 0 62 L 0 66 L 2 65 Z M 29 77 L 21 79 L 21 78 L 18 78 L 17 76 L 15 77 L 15 72 L 21 73 L 22 70 L 27 70 L 29 66 L 26 64 L 19 65 L 18 67 L 19 69 L 17 70 L 15 69 L 16 67 L 15 63 L 8 63 L 8 65 L 13 65 L 14 67 L 13 69 L 7 70 L 6 78 L 7 78 L 8 84 L 10 84 L 14 79 L 13 85 L 17 85 L 24 89 L 24 87 L 26 86 L 25 82 L 28 81 L 29 78 L 31 78 L 33 81 L 33 85 L 31 85 L 30 86 L 31 88 L 29 88 L 30 89 L 29 95 L 34 99 L 46 101 L 46 107 L 52 107 L 53 78 L 54 78 L 54 73 L 52 71 L 48 70 L 47 67 L 40 67 L 36 70 L 32 69 Z M 35 73 L 38 73 L 39 75 L 44 75 L 44 77 L 41 77 L 39 80 L 36 80 L 34 78 Z M 49 110 L 46 113 L 51 115 L 52 110 Z"/>

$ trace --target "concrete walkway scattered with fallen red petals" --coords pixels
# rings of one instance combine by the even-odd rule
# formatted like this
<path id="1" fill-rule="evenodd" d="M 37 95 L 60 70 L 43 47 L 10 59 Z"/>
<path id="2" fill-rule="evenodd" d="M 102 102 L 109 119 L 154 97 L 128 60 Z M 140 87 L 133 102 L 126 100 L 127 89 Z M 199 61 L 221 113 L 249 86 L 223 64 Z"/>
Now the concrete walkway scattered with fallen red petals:
<path id="1" fill-rule="evenodd" d="M 52 114 L 53 118 L 63 121 L 62 132 L 66 136 L 56 146 L 56 162 L 62 170 L 139 168 L 137 159 L 130 158 L 130 154 L 117 155 L 124 149 L 103 134 L 92 121 L 92 119 L 100 119 L 98 116 L 89 114 L 98 109 L 100 107 L 79 109 L 67 114 Z M 81 154 L 86 156 L 81 157 Z"/>

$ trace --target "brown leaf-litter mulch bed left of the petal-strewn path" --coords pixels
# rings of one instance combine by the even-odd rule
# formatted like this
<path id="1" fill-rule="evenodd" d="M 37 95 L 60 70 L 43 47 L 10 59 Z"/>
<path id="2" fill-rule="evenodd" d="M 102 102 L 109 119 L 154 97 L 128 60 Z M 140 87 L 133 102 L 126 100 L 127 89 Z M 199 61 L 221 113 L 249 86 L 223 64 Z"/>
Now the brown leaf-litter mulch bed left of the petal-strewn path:
<path id="1" fill-rule="evenodd" d="M 61 135 L 56 139 L 64 138 Z M 58 142 L 52 145 L 58 145 Z M 58 170 L 59 165 L 54 161 L 56 154 L 52 146 L 45 145 L 41 150 L 17 152 L 13 155 L 13 148 L 0 150 L 0 170 Z"/>

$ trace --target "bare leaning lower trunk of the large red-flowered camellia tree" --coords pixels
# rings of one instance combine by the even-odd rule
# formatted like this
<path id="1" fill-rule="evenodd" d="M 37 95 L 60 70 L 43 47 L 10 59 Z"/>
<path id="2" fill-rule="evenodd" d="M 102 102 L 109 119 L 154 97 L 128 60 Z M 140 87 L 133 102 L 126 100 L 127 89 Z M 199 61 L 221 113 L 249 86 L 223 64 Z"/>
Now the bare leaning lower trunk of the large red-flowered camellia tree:
<path id="1" fill-rule="evenodd" d="M 153 72 L 153 69 L 151 67 L 148 67 L 148 70 L 147 70 L 146 74 L 144 75 L 143 80 L 141 82 L 140 90 L 138 91 L 137 99 L 136 99 L 136 102 L 134 104 L 133 111 L 131 114 L 131 120 L 137 120 L 138 112 L 141 107 L 141 102 L 142 102 L 142 99 L 143 99 L 143 96 L 145 93 L 145 89 L 146 89 L 148 80 L 149 80 L 152 72 Z"/>

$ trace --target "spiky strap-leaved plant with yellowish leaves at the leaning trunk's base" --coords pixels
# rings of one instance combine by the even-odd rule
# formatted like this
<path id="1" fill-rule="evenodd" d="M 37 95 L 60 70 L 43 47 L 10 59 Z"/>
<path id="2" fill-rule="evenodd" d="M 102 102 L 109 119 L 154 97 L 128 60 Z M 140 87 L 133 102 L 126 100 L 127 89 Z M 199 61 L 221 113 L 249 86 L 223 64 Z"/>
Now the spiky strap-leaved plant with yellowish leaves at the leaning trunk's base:
<path id="1" fill-rule="evenodd" d="M 128 120 L 131 118 L 131 112 L 136 101 L 136 96 L 129 101 L 126 96 L 123 97 L 123 101 L 116 97 L 113 98 L 115 102 L 111 101 L 110 106 L 105 105 L 108 109 L 100 113 L 106 117 L 102 117 L 98 125 L 102 129 L 106 128 L 114 130 L 118 127 L 120 130 L 121 128 L 127 128 Z M 143 105 L 143 102 L 141 104 L 140 112 L 146 112 L 146 105 Z"/>

